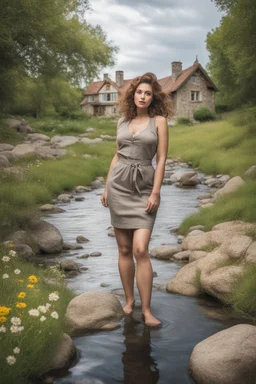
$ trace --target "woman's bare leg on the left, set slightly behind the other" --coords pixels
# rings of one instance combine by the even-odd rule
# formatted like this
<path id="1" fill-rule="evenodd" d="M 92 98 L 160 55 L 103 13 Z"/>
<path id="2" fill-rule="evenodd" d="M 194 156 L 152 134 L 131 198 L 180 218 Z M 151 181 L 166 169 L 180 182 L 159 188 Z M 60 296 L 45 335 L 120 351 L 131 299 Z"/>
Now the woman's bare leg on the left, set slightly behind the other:
<path id="1" fill-rule="evenodd" d="M 132 238 L 131 229 L 115 228 L 116 241 L 118 245 L 118 268 L 120 278 L 125 292 L 126 304 L 123 307 L 124 312 L 129 315 L 134 307 L 134 275 L 135 265 L 132 254 Z"/>

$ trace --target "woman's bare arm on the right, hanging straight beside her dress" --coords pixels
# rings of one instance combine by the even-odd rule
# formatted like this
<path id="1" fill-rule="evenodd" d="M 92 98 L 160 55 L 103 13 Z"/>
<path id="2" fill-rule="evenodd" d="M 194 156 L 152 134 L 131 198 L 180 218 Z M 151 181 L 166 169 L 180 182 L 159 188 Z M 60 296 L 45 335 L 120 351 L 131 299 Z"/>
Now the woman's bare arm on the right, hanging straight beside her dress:
<path id="1" fill-rule="evenodd" d="M 167 119 L 163 116 L 156 117 L 158 127 L 158 146 L 156 154 L 156 169 L 152 193 L 148 198 L 146 212 L 153 212 L 159 205 L 160 189 L 164 178 L 165 162 L 168 154 L 169 132 Z"/>

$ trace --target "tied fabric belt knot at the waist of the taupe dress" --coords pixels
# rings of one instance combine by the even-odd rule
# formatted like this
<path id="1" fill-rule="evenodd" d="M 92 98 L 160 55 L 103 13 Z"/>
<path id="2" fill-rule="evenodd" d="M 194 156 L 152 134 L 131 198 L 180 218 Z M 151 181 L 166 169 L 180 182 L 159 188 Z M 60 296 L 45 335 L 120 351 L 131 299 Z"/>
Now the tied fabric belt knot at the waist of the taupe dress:
<path id="1" fill-rule="evenodd" d="M 145 177 L 143 175 L 143 165 L 152 165 L 151 160 L 141 160 L 139 162 L 135 162 L 135 160 L 132 159 L 125 159 L 120 158 L 119 160 L 121 163 L 127 164 L 126 170 L 124 174 L 121 177 L 121 180 L 126 180 L 129 177 L 130 184 L 132 186 L 131 194 L 134 194 L 135 191 L 139 193 L 141 196 L 141 191 L 139 189 L 138 183 L 137 183 L 137 177 L 140 174 L 142 177 L 142 180 L 145 180 Z"/>

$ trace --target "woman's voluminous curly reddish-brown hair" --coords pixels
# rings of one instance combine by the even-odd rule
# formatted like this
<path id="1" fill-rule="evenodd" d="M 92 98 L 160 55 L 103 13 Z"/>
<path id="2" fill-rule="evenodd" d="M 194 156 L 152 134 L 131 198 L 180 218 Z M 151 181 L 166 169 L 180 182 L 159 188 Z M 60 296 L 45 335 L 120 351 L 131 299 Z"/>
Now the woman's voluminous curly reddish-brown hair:
<path id="1" fill-rule="evenodd" d="M 149 116 L 173 116 L 172 101 L 170 96 L 162 90 L 162 86 L 157 81 L 156 75 L 152 72 L 147 72 L 142 76 L 135 77 L 129 85 L 129 88 L 118 100 L 119 112 L 124 115 L 125 119 L 132 120 L 137 116 L 134 94 L 138 86 L 142 83 L 147 83 L 152 86 L 153 100 L 148 107 Z"/>

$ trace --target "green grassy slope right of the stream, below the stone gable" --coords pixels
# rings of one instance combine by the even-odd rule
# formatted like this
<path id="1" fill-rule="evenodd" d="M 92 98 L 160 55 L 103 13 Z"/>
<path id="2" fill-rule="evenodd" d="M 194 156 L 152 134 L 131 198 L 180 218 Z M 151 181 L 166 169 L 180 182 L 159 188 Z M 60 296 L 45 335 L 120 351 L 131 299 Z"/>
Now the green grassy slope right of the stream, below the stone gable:
<path id="1" fill-rule="evenodd" d="M 256 164 L 256 136 L 251 125 L 239 124 L 239 117 L 235 112 L 223 120 L 170 129 L 169 156 L 192 161 L 193 167 L 208 174 L 239 175 L 246 181 L 239 190 L 223 196 L 213 207 L 203 208 L 185 218 L 180 226 L 183 235 L 190 226 L 197 224 L 210 230 L 223 221 L 255 222 L 256 181 L 246 177 L 244 172 Z"/>

